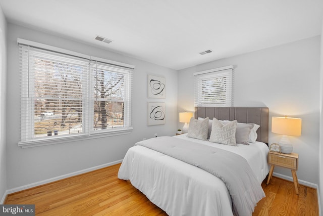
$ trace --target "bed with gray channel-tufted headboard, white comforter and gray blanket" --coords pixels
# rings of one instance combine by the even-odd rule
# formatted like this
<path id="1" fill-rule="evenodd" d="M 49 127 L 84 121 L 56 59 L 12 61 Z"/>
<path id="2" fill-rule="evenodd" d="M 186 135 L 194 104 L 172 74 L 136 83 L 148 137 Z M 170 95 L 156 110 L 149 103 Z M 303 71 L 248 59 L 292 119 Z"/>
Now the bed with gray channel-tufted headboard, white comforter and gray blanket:
<path id="1" fill-rule="evenodd" d="M 237 146 L 230 146 L 190 138 L 187 134 L 165 138 L 158 137 L 145 142 L 141 141 L 126 153 L 119 169 L 118 178 L 130 180 L 135 188 L 169 215 L 252 215 L 256 203 L 264 197 L 261 182 L 268 174 L 268 164 L 266 162 L 268 153 L 268 108 L 195 107 L 194 117 L 196 119 L 208 118 L 211 120 L 216 118 L 231 122 L 237 120 L 242 124 L 257 124 L 259 128 L 256 129 L 256 141 L 248 142 L 249 145 L 237 144 Z M 225 123 L 223 122 L 223 124 Z M 145 146 L 148 142 L 148 145 L 160 143 L 160 148 L 169 146 L 171 151 L 165 153 L 159 151 L 159 149 L 153 150 L 150 146 Z M 177 156 L 172 155 L 172 153 L 176 152 L 175 149 L 179 144 L 193 145 L 192 149 L 195 147 L 211 151 L 216 149 L 209 153 L 208 156 L 202 156 L 197 160 L 202 158 L 201 160 L 211 161 L 218 158 L 212 157 L 212 154 L 216 152 L 219 153 L 217 154 L 218 156 L 222 155 L 224 158 L 227 157 L 225 153 L 242 157 L 242 162 L 246 161 L 248 164 L 246 170 L 251 171 L 240 171 L 238 174 L 239 169 L 245 169 L 242 168 L 242 162 L 235 162 L 234 160 L 233 163 L 225 162 L 224 164 L 212 162 L 212 165 L 222 166 L 224 169 L 229 170 L 230 175 L 236 175 L 231 178 L 234 180 L 230 181 L 242 181 L 240 179 L 244 178 L 242 177 L 244 172 L 252 172 L 252 175 L 246 175 L 248 176 L 247 178 L 252 176 L 250 177 L 252 181 L 243 180 L 245 183 L 240 182 L 237 188 L 245 191 L 245 194 L 242 192 L 242 197 L 249 198 L 250 195 L 246 195 L 249 188 L 242 188 L 251 187 L 250 190 L 255 191 L 255 195 L 251 195 L 253 201 L 249 203 L 247 200 L 248 203 L 245 203 L 246 201 L 241 196 L 237 198 L 235 191 L 232 189 L 232 185 L 237 183 L 233 182 L 228 185 L 230 181 L 224 180 L 222 177 L 225 175 L 219 175 L 218 170 L 215 173 L 213 169 L 209 171 L 208 165 L 203 168 L 200 161 L 190 162 L 185 161 L 186 159 L 182 161 L 182 158 L 177 159 Z M 189 154 L 188 148 L 184 150 L 179 151 L 185 152 L 185 155 Z M 198 151 L 198 149 L 194 151 Z M 251 186 L 248 186 L 248 184 Z"/>

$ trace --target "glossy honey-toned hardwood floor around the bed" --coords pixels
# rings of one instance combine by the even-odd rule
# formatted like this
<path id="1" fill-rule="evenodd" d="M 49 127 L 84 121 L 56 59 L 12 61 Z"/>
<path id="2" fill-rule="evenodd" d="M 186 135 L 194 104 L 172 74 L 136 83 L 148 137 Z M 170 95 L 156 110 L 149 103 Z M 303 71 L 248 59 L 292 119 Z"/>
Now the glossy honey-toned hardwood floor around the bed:
<path id="1" fill-rule="evenodd" d="M 129 181 L 120 164 L 9 194 L 4 204 L 35 204 L 36 215 L 167 215 Z M 273 177 L 252 215 L 318 215 L 316 190 Z"/>

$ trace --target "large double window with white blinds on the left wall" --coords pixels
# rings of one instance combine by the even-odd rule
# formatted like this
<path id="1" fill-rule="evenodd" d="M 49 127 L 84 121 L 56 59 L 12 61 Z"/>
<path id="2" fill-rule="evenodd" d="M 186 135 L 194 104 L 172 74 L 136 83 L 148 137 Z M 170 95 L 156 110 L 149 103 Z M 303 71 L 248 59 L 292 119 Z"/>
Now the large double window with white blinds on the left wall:
<path id="1" fill-rule="evenodd" d="M 21 41 L 20 146 L 132 129 L 133 68 Z"/>

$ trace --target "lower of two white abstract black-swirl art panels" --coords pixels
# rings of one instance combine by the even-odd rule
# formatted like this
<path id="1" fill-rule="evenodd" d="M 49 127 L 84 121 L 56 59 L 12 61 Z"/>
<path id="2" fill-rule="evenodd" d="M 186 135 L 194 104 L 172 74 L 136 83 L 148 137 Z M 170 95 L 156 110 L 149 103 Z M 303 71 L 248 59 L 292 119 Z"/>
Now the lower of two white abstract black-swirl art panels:
<path id="1" fill-rule="evenodd" d="M 166 123 L 166 104 L 164 102 L 148 102 L 148 126 Z"/>

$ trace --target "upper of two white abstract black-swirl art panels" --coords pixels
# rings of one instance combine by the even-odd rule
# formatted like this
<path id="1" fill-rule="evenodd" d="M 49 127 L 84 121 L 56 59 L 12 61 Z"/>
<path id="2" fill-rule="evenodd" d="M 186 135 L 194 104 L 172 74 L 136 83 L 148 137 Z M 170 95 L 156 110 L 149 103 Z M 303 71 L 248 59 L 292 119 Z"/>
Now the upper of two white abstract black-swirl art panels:
<path id="1" fill-rule="evenodd" d="M 148 75 L 147 83 L 148 98 L 166 98 L 166 78 Z"/>

